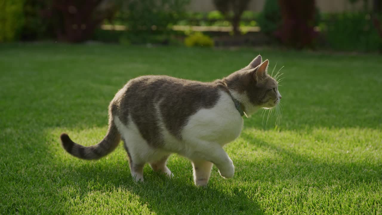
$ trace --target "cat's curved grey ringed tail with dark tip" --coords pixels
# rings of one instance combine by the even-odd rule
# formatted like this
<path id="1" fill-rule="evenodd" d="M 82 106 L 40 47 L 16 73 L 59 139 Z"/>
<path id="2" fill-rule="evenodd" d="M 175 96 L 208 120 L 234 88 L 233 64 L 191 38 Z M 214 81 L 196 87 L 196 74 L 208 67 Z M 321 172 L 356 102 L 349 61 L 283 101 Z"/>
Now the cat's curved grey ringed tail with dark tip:
<path id="1" fill-rule="evenodd" d="M 102 158 L 108 153 L 112 152 L 121 140 L 121 135 L 118 132 L 117 126 L 114 124 L 113 119 L 109 121 L 109 128 L 106 136 L 97 145 L 85 147 L 74 143 L 69 135 L 62 133 L 61 136 L 62 147 L 71 155 L 85 160 L 94 160 Z"/>

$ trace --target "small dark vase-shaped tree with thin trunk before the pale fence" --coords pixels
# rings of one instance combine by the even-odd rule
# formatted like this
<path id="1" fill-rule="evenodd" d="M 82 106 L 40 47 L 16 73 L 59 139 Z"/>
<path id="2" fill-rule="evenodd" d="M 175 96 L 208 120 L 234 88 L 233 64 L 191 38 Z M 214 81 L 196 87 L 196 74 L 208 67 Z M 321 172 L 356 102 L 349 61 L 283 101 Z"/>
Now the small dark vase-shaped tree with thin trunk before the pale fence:
<path id="1" fill-rule="evenodd" d="M 231 22 L 233 35 L 240 34 L 240 20 L 251 0 L 214 0 L 215 7 Z"/>

